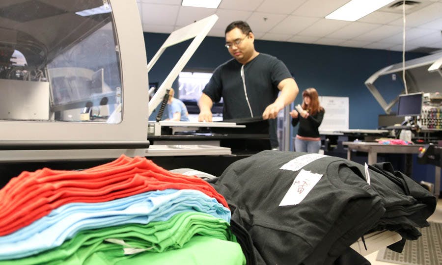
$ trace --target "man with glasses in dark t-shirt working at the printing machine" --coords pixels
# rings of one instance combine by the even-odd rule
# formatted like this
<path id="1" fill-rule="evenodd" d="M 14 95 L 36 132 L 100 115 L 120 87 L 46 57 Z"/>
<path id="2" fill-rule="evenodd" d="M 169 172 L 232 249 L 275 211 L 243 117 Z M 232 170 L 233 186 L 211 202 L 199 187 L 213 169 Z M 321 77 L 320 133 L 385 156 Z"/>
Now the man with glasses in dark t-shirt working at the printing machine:
<path id="1" fill-rule="evenodd" d="M 299 89 L 287 67 L 274 56 L 256 52 L 254 39 L 244 21 L 227 26 L 225 47 L 233 58 L 215 69 L 204 88 L 198 102 L 198 121 L 212 121 L 211 108 L 221 97 L 224 120 L 256 116 L 275 119 L 284 106 L 295 100 Z M 275 148 L 276 122 L 272 120 L 269 124 L 271 145 Z"/>

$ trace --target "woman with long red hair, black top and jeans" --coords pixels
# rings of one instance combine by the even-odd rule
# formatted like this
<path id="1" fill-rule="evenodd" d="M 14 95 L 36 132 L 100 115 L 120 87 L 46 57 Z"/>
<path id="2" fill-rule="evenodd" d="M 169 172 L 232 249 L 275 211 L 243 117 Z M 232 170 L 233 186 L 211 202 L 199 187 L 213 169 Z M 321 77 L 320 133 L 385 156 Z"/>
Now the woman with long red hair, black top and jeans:
<path id="1" fill-rule="evenodd" d="M 290 111 L 292 125 L 299 123 L 295 138 L 295 151 L 318 153 L 321 149 L 321 137 L 318 128 L 324 118 L 325 110 L 319 105 L 318 92 L 310 87 L 303 92 L 303 104 L 297 106 L 298 111 Z"/>

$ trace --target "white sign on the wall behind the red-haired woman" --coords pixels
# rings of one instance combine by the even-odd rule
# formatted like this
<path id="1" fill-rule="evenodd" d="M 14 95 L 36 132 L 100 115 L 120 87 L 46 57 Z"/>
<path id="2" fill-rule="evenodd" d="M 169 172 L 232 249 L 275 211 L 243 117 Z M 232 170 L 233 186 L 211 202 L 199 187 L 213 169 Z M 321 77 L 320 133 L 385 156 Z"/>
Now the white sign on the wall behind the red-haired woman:
<path id="1" fill-rule="evenodd" d="M 349 98 L 320 96 L 319 103 L 325 109 L 319 132 L 348 130 Z"/>

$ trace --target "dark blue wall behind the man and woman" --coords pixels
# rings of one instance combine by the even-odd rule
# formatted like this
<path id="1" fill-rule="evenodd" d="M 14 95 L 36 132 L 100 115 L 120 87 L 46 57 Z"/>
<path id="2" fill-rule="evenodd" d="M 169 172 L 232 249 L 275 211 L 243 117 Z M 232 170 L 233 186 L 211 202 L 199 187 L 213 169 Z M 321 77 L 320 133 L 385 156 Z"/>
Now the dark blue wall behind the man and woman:
<path id="1" fill-rule="evenodd" d="M 166 40 L 168 34 L 144 32 L 148 61 Z M 149 82 L 160 84 L 172 70 L 191 40 L 167 48 L 149 73 Z M 231 58 L 221 37 L 206 37 L 191 57 L 185 69 L 213 71 Z M 376 129 L 378 114 L 385 114 L 364 81 L 373 73 L 390 64 L 401 62 L 401 52 L 348 48 L 327 45 L 300 44 L 276 41 L 255 41 L 255 49 L 281 59 L 293 74 L 300 92 L 315 87 L 321 96 L 349 97 L 350 129 Z M 406 60 L 426 54 L 406 53 Z M 400 76 L 393 81 L 385 76 L 375 82 L 387 102 L 402 90 Z M 301 103 L 300 96 L 295 104 Z"/>

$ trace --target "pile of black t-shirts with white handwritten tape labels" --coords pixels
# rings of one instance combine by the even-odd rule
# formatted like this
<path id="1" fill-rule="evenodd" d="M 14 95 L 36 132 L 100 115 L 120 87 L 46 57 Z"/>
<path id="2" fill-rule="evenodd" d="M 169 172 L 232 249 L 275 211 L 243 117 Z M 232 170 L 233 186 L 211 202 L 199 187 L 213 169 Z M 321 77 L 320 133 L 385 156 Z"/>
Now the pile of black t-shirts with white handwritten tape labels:
<path id="1" fill-rule="evenodd" d="M 248 264 L 332 264 L 370 231 L 417 238 L 436 207 L 404 175 L 320 154 L 263 151 L 210 182 L 232 209 Z"/>

